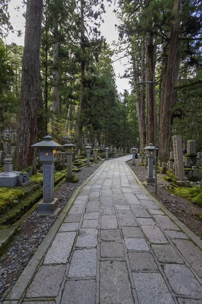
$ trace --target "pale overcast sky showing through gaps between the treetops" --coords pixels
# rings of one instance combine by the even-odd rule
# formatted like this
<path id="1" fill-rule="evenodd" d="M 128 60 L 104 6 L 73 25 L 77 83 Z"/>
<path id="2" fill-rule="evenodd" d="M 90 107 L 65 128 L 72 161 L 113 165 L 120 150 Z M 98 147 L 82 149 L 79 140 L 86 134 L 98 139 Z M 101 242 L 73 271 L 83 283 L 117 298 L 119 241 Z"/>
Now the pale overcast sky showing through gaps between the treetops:
<path id="1" fill-rule="evenodd" d="M 111 45 L 112 42 L 118 41 L 118 32 L 115 29 L 115 24 L 118 24 L 118 20 L 113 13 L 113 6 L 109 7 L 107 1 L 105 0 L 105 7 L 106 7 L 106 15 L 105 15 L 105 23 L 101 25 L 100 30 L 102 31 L 102 34 L 106 37 L 107 42 Z M 22 12 L 25 9 L 22 9 L 20 12 L 18 12 L 15 8 L 17 6 L 22 7 L 22 1 L 21 0 L 11 0 L 9 4 L 9 12 L 10 12 L 10 21 L 11 24 L 14 27 L 14 30 L 21 29 L 23 34 L 21 37 L 17 37 L 15 33 L 10 33 L 7 37 L 7 44 L 10 44 L 12 42 L 15 42 L 17 45 L 24 46 L 24 23 L 25 19 L 22 16 Z M 126 63 L 126 59 L 121 59 L 121 61 L 114 62 L 114 69 L 116 73 L 116 84 L 117 89 L 119 92 L 123 92 L 124 89 L 128 90 L 130 89 L 130 86 L 128 85 L 127 79 L 120 79 L 119 74 L 124 73 L 124 66 L 123 64 Z"/>

